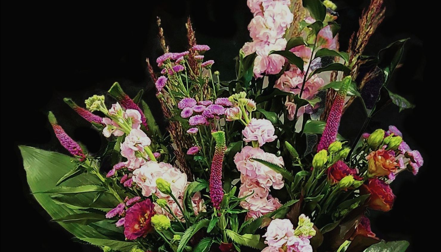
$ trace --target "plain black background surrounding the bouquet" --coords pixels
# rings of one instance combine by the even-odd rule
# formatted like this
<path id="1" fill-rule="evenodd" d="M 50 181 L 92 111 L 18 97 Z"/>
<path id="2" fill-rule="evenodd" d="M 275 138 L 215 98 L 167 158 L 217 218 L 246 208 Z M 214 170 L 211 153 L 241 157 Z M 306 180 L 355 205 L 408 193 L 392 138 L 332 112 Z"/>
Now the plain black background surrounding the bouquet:
<path id="1" fill-rule="evenodd" d="M 144 98 L 160 118 L 145 63 L 146 57 L 154 62 L 161 54 L 157 15 L 162 19 L 171 51 L 176 52 L 186 49 L 184 23 L 190 15 L 198 43 L 212 48 L 206 58 L 216 61 L 214 68 L 221 71 L 221 79 L 235 77 L 233 58 L 243 43 L 250 40 L 247 24 L 252 15 L 245 0 L 155 2 L 144 1 L 142 5 L 132 6 L 92 5 L 91 2 L 2 4 L 2 248 L 12 245 L 20 250 L 48 252 L 99 251 L 71 241 L 70 233 L 49 222 L 49 215 L 29 194 L 17 145 L 66 154 L 47 121 L 47 111 L 52 110 L 74 139 L 86 144 L 91 152 L 98 151 L 103 143 L 101 136 L 65 105 L 62 98 L 71 97 L 82 104 L 92 94 L 104 94 L 115 81 L 132 97 L 137 90 L 147 87 Z M 338 20 L 342 24 L 340 46 L 346 49 L 368 1 L 335 3 L 339 6 Z M 422 243 L 429 242 L 423 225 L 430 222 L 435 213 L 430 202 L 437 199 L 430 188 L 435 158 L 429 155 L 428 147 L 436 144 L 433 139 L 436 129 L 425 124 L 430 120 L 426 115 L 434 115 L 436 108 L 427 99 L 429 83 L 423 83 L 424 31 L 419 26 L 421 23 L 414 19 L 421 17 L 423 11 L 418 4 L 402 1 L 385 0 L 385 6 L 386 18 L 370 39 L 365 54 L 375 55 L 397 39 L 411 38 L 405 46 L 403 65 L 394 73 L 389 88 L 417 107 L 398 113 L 396 107 L 390 106 L 372 120 L 368 130 L 396 125 L 407 143 L 420 150 L 425 162 L 416 177 L 402 173 L 392 183 L 397 196 L 395 206 L 388 213 L 371 211 L 372 229 L 386 241 L 410 241 L 408 251 L 421 251 Z M 344 115 L 342 124 L 345 126 L 340 132 L 356 134 L 362 120 L 363 114 L 355 106 Z"/>

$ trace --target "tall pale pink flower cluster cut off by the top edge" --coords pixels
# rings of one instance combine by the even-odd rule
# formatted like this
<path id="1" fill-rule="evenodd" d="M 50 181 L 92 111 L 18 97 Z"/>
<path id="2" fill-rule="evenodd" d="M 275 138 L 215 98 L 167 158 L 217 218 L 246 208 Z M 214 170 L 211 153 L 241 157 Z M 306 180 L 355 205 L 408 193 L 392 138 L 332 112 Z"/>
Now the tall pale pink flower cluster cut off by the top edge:
<path id="1" fill-rule="evenodd" d="M 283 56 L 272 54 L 271 51 L 284 50 L 286 47 L 285 31 L 294 18 L 289 0 L 248 0 L 248 7 L 254 18 L 248 25 L 252 42 L 243 45 L 245 56 L 256 53 L 254 60 L 254 77 L 265 74 L 277 74 L 285 64 Z"/>

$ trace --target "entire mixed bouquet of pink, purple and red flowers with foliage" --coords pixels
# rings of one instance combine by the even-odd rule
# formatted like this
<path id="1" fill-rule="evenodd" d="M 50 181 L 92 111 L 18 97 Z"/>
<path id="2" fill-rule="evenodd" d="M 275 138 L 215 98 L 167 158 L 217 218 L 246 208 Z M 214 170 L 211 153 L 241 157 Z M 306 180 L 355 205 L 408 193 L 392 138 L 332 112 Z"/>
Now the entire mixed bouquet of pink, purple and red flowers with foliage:
<path id="1" fill-rule="evenodd" d="M 114 83 L 77 105 L 107 138 L 90 154 L 55 115 L 49 121 L 70 156 L 21 146 L 37 201 L 78 241 L 103 251 L 374 252 L 405 251 L 381 241 L 368 209 L 389 211 L 389 184 L 423 159 L 394 126 L 365 132 L 386 105 L 412 108 L 387 89 L 406 40 L 363 55 L 380 25 L 371 0 L 346 52 L 339 50 L 336 5 L 329 0 L 248 0 L 252 41 L 239 51 L 237 78 L 221 81 L 190 19 L 188 50 L 156 60 L 160 128 L 142 90 Z M 235 70 L 233 70 L 235 69 Z M 352 102 L 366 121 L 356 139 L 339 132 Z M 341 133 L 341 135 L 339 134 Z"/>

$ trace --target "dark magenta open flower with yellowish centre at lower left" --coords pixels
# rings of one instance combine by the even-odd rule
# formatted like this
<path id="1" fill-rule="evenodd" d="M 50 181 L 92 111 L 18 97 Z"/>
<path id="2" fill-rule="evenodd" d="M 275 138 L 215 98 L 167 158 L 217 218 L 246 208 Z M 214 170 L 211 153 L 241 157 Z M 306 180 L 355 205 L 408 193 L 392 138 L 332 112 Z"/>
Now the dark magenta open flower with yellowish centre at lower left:
<path id="1" fill-rule="evenodd" d="M 124 236 L 128 240 L 145 237 L 153 230 L 151 218 L 155 214 L 150 199 L 135 203 L 126 211 L 124 221 Z"/>

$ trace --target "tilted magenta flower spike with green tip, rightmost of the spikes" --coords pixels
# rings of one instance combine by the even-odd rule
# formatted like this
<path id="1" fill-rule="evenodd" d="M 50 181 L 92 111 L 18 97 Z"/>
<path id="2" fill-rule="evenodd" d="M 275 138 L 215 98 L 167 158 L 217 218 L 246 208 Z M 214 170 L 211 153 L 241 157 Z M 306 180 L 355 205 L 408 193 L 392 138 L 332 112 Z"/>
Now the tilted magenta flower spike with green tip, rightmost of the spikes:
<path id="1" fill-rule="evenodd" d="M 343 84 L 337 92 L 328 119 L 326 120 L 325 129 L 321 135 L 320 143 L 318 143 L 317 151 L 328 150 L 329 144 L 335 142 L 337 139 L 338 127 L 340 126 L 340 119 L 344 106 L 344 98 L 346 97 L 351 81 L 351 76 L 346 76 L 343 79 Z"/>

